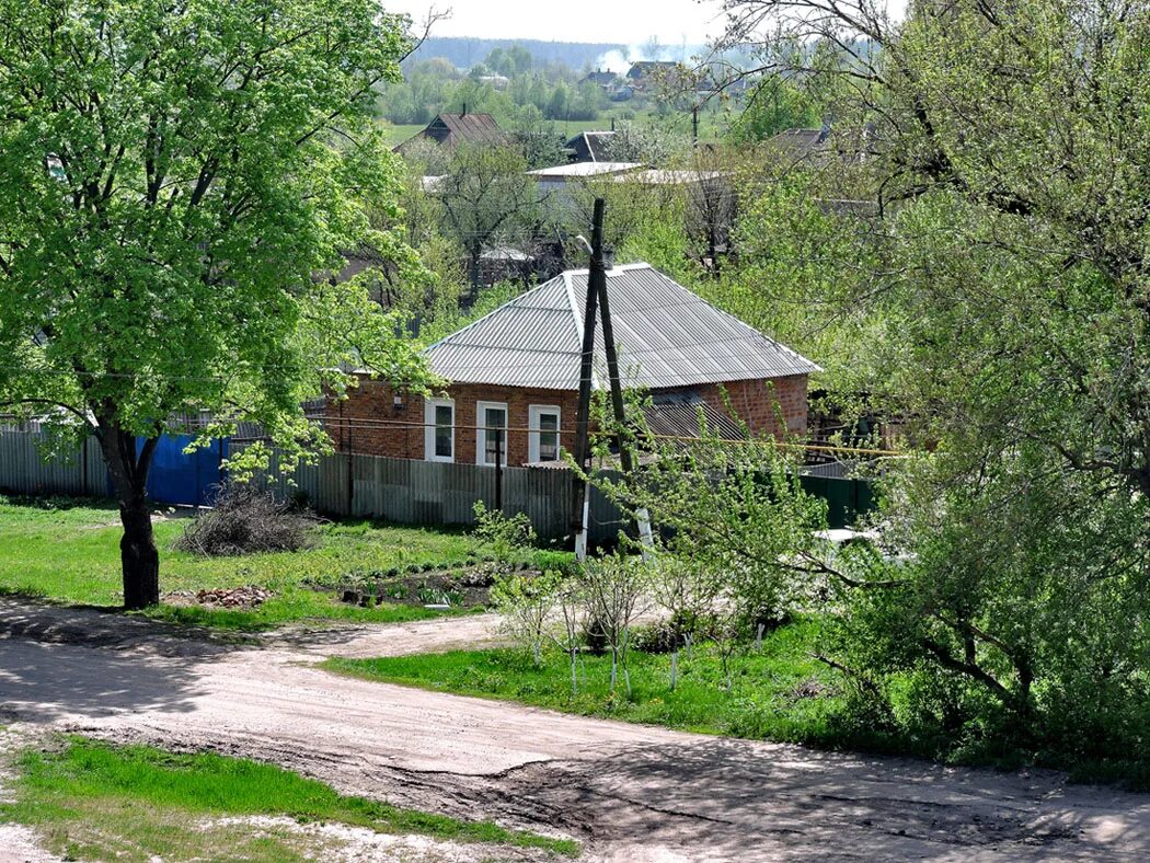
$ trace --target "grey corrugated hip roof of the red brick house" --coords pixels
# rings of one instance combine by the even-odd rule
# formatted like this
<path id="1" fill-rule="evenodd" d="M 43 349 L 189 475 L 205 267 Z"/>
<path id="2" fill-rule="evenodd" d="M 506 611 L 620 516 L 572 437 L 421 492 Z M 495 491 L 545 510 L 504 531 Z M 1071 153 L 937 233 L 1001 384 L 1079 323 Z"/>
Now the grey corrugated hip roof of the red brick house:
<path id="1" fill-rule="evenodd" d="M 585 269 L 555 276 L 424 354 L 437 373 L 460 383 L 576 390 L 586 280 Z M 666 389 L 821 371 L 647 264 L 608 270 L 607 297 L 627 387 Z M 606 385 L 599 327 L 592 383 Z"/>

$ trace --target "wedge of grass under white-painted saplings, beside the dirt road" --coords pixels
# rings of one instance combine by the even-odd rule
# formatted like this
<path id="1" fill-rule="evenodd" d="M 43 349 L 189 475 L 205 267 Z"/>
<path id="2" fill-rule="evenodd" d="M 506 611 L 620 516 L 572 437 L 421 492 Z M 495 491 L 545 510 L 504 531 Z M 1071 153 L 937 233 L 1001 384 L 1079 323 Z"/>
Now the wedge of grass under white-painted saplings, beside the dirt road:
<path id="1" fill-rule="evenodd" d="M 834 672 L 808 652 L 819 640 L 816 619 L 802 619 L 767 633 L 731 663 L 731 686 L 714 646 L 688 657 L 680 652 L 678 681 L 670 689 L 670 656 L 634 651 L 628 663 L 631 694 L 620 674 L 611 692 L 610 656 L 583 657 L 572 693 L 570 663 L 545 652 L 536 666 L 515 649 L 460 650 L 377 659 L 329 659 L 324 667 L 369 680 L 436 692 L 521 702 L 583 716 L 737 738 L 838 744 L 843 697 Z"/>

